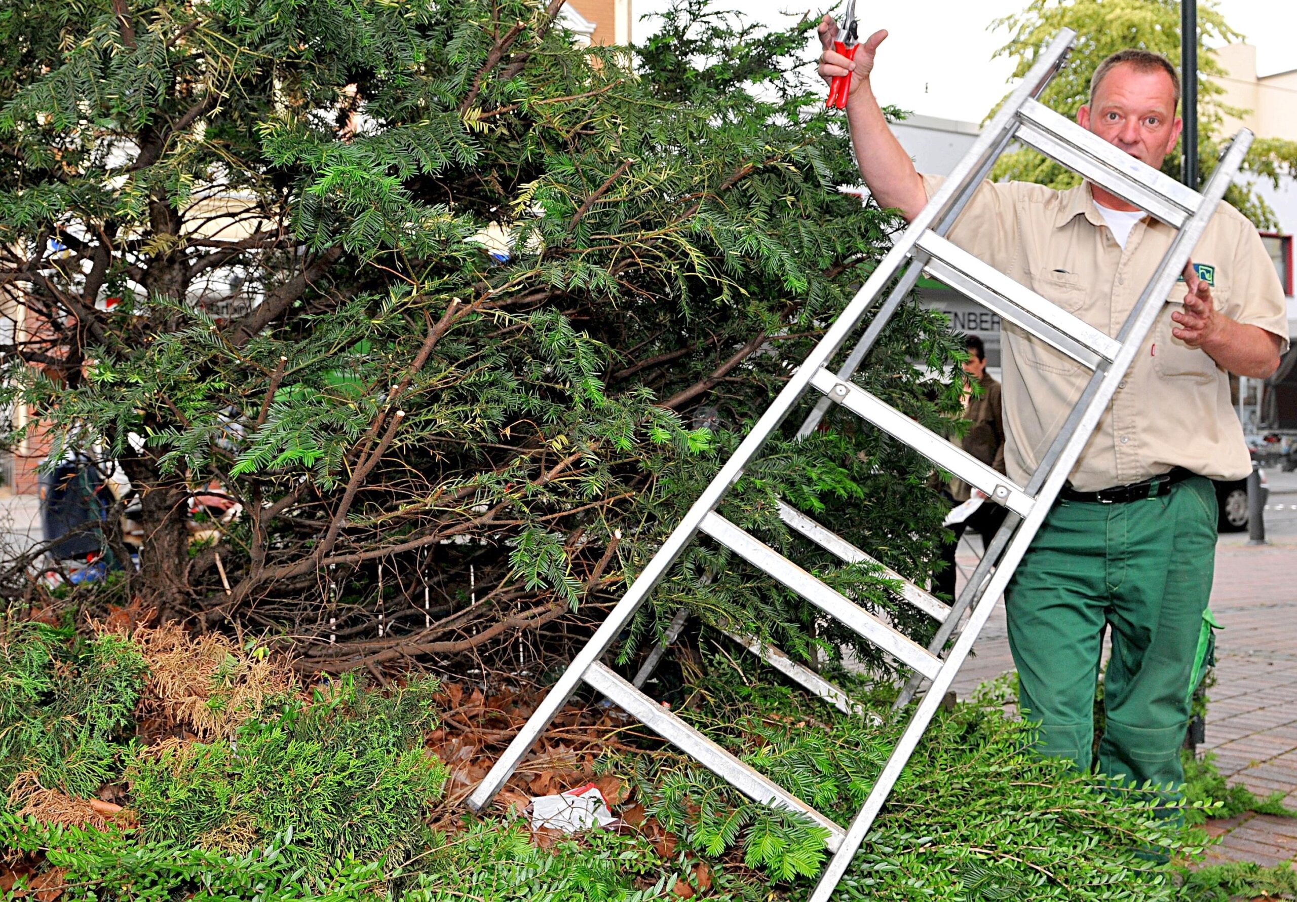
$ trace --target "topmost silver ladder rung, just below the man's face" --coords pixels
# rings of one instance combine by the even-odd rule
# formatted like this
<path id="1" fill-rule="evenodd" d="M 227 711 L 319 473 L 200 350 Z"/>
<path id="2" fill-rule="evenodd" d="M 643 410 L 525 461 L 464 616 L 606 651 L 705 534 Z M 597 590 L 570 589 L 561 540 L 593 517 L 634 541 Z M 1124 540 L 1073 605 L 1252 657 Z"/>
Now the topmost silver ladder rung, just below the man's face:
<path id="1" fill-rule="evenodd" d="M 1140 162 L 1092 131 L 1082 128 L 1038 100 L 1018 112 L 1017 138 L 1067 169 L 1179 228 L 1198 209 L 1202 196 Z"/>

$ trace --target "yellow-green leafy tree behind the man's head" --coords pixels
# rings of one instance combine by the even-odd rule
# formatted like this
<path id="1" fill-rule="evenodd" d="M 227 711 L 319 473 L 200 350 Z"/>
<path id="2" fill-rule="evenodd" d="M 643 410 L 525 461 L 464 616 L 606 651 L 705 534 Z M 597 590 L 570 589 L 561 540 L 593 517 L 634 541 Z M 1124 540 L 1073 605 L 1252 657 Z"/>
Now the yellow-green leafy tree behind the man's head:
<path id="1" fill-rule="evenodd" d="M 1161 53 L 1175 66 L 1180 65 L 1180 0 L 1031 0 L 1014 16 L 992 22 L 995 29 L 1008 29 L 1013 36 L 995 52 L 1017 60 L 1014 78 L 1021 78 L 1035 62 L 1040 48 L 1060 29 L 1074 29 L 1077 45 L 1067 65 L 1045 88 L 1041 103 L 1051 109 L 1077 117 L 1077 110 L 1089 100 L 1089 78 L 1110 53 L 1140 48 Z M 1215 169 L 1217 160 L 1232 134 L 1224 134 L 1224 116 L 1239 117 L 1244 110 L 1227 106 L 1224 91 L 1211 79 L 1226 75 L 1211 44 L 1227 44 L 1244 36 L 1230 27 L 1213 0 L 1198 3 L 1198 173 L 1202 180 Z M 1176 145 L 1162 162 L 1162 171 L 1180 179 L 1182 151 Z M 1279 178 L 1297 165 L 1297 141 L 1259 138 L 1244 161 L 1243 169 L 1257 178 L 1270 179 L 1278 188 Z M 992 173 L 996 180 L 1022 180 L 1070 188 L 1080 177 L 1032 149 L 1021 149 L 1000 157 Z M 1275 214 L 1249 184 L 1235 183 L 1226 200 L 1252 219 L 1258 228 L 1274 228 Z"/>

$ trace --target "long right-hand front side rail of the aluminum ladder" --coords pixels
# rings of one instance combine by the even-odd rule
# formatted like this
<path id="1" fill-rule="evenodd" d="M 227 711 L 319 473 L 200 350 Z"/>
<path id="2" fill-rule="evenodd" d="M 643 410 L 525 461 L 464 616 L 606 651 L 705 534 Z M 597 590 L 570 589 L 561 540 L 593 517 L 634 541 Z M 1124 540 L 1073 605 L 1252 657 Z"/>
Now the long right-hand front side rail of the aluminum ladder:
<path id="1" fill-rule="evenodd" d="M 1119 336 L 1119 340 L 1122 341 L 1122 352 L 1117 356 L 1117 360 L 1113 361 L 1112 370 L 1108 372 L 1106 378 L 1102 379 L 1099 385 L 1099 391 L 1095 393 L 1093 398 L 1091 398 L 1084 414 L 1082 414 L 1079 422 L 1077 423 L 1075 431 L 1067 437 L 1057 461 L 1054 462 L 1054 466 L 1049 471 L 1049 475 L 1044 479 L 1038 497 L 1045 502 L 1035 505 L 1014 533 L 1008 549 L 1005 550 L 1004 559 L 1000 562 L 1000 566 L 995 568 L 995 572 L 991 575 L 991 581 L 987 584 L 981 600 L 973 609 L 968 626 L 955 641 L 955 646 L 951 649 L 951 654 L 946 659 L 946 664 L 933 680 L 933 685 L 927 694 L 918 703 L 918 710 L 914 713 L 914 718 L 901 735 L 900 742 L 896 744 L 891 757 L 887 759 L 887 764 L 883 766 L 883 771 L 874 783 L 873 789 L 870 789 L 869 798 L 865 799 L 864 807 L 861 807 L 860 812 L 852 820 L 851 827 L 847 829 L 847 837 L 843 841 L 842 847 L 834 854 L 829 866 L 821 875 L 820 883 L 816 884 L 816 889 L 812 893 L 809 902 L 829 902 L 838 881 L 842 880 L 842 876 L 846 873 L 847 867 L 851 864 L 851 859 L 860 849 L 860 844 L 864 841 L 865 835 L 873 825 L 874 818 L 878 815 L 878 811 L 882 810 L 883 802 L 887 801 L 887 796 L 891 793 L 892 786 L 900 777 L 901 770 L 904 770 L 905 763 L 909 761 L 914 748 L 918 745 L 918 740 L 922 737 L 923 731 L 927 729 L 927 724 L 936 713 L 936 707 L 940 705 L 942 697 L 946 694 L 946 690 L 949 689 L 951 683 L 955 681 L 955 676 L 958 672 L 960 666 L 964 663 L 968 653 L 973 649 L 973 642 L 977 641 L 978 635 L 982 632 L 987 619 L 991 616 L 991 611 L 999 602 L 1000 596 L 1004 594 L 1004 589 L 1008 587 L 1009 580 L 1013 579 L 1013 574 L 1022 562 L 1022 557 L 1026 554 L 1027 548 L 1031 545 L 1036 532 L 1040 530 L 1045 517 L 1049 514 L 1052 507 L 1052 504 L 1049 502 L 1058 496 L 1064 483 L 1071 474 L 1071 469 L 1077 465 L 1077 461 L 1080 459 L 1080 453 L 1088 444 L 1095 427 L 1099 426 L 1099 421 L 1102 418 L 1104 411 L 1108 409 L 1108 404 L 1117 392 L 1118 380 L 1126 375 L 1126 371 L 1135 361 L 1135 356 L 1139 353 L 1140 347 L 1144 343 L 1144 337 L 1157 322 L 1157 317 L 1166 305 L 1166 297 L 1170 293 L 1171 287 L 1175 284 L 1179 270 L 1182 270 L 1188 262 L 1193 247 L 1202 236 L 1202 231 L 1206 228 L 1210 218 L 1215 214 L 1217 206 L 1224 196 L 1224 191 L 1233 179 L 1233 175 L 1237 173 L 1239 165 L 1243 162 L 1243 156 L 1246 153 L 1250 144 L 1252 132 L 1246 128 L 1241 130 L 1230 144 L 1230 148 L 1226 151 L 1215 171 L 1211 174 L 1211 179 L 1202 192 L 1202 204 L 1198 206 L 1193 217 L 1191 217 L 1184 225 L 1184 228 L 1182 228 L 1171 241 L 1171 247 L 1167 249 L 1166 254 L 1162 257 L 1161 265 L 1158 266 L 1157 275 L 1148 286 L 1145 286 L 1144 293 L 1140 296 L 1135 310 L 1122 327 Z"/>

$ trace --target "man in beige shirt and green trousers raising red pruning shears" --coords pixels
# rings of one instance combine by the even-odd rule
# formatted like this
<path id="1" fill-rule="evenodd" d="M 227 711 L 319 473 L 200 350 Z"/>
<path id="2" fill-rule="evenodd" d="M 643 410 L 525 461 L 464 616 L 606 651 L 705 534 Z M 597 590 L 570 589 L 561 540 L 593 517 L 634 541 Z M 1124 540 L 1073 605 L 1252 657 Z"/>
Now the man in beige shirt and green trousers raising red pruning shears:
<path id="1" fill-rule="evenodd" d="M 835 53 L 825 79 L 850 75 L 847 119 L 860 173 L 878 204 L 913 219 L 942 179 L 920 175 L 870 87 L 886 31 Z M 1161 56 L 1123 51 L 1091 80 L 1077 121 L 1157 169 L 1175 147 L 1180 86 Z M 1174 231 L 1097 186 L 1067 191 L 983 183 L 949 239 L 1058 306 L 1115 335 Z M 1287 349 L 1278 275 L 1252 225 L 1222 204 L 1150 336 L 1070 474 L 1005 593 L 1019 702 L 1041 722 L 1040 750 L 1091 768 L 1095 684 L 1104 632 L 1106 731 L 1099 771 L 1135 783 L 1183 783 L 1179 748 L 1189 679 L 1211 588 L 1211 479 L 1250 470 L 1227 372 L 1265 379 Z M 1001 344 L 1005 465 L 1026 484 L 1089 374 L 1026 332 Z"/>

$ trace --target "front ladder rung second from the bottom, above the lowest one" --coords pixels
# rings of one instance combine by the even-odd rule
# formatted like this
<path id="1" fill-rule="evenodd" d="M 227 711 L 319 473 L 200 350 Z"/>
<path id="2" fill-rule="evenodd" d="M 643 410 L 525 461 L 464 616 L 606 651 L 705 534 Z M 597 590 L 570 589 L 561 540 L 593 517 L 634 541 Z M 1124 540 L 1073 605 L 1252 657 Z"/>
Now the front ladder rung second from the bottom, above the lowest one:
<path id="1" fill-rule="evenodd" d="M 942 659 L 922 645 L 896 632 L 851 598 L 831 589 L 720 514 L 712 511 L 703 518 L 698 528 L 923 676 L 931 679 L 942 668 Z"/>

